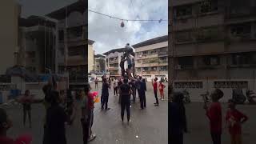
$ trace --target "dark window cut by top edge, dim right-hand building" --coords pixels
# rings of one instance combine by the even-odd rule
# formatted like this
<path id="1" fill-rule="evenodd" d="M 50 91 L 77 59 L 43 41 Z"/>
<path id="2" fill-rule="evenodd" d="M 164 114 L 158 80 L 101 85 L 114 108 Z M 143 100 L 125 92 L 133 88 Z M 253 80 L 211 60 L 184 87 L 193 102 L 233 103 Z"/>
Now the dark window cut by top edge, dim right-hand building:
<path id="1" fill-rule="evenodd" d="M 218 10 L 217 0 L 208 0 L 200 3 L 200 13 L 209 13 Z"/>

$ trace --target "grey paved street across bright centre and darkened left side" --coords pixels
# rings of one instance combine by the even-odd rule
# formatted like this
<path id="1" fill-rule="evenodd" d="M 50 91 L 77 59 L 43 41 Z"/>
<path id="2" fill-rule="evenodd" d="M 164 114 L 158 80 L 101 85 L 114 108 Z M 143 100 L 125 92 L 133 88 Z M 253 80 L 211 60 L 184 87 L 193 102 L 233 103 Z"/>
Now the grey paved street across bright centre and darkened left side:
<path id="1" fill-rule="evenodd" d="M 99 83 L 98 90 L 101 90 Z M 166 84 L 167 85 L 167 84 Z M 91 84 L 94 88 L 94 84 Z M 165 144 L 167 139 L 167 101 L 160 101 L 160 106 L 154 106 L 154 93 L 150 83 L 147 83 L 146 110 L 139 109 L 139 101 L 131 107 L 131 123 L 128 126 L 122 124 L 118 97 L 114 97 L 110 90 L 110 110 L 100 110 L 100 103 L 95 104 L 93 130 L 97 138 L 91 144 Z M 94 89 L 93 89 L 94 90 Z M 92 90 L 92 91 L 93 91 Z M 101 92 L 100 92 L 101 94 Z M 167 89 L 165 91 L 167 95 Z M 43 118 L 45 110 L 42 104 L 32 106 L 32 129 L 22 126 L 22 107 L 16 106 L 7 109 L 10 118 L 14 121 L 14 127 L 8 131 L 8 135 L 16 137 L 18 134 L 29 132 L 33 134 L 34 144 L 42 143 Z M 125 115 L 126 116 L 126 115 Z M 66 127 L 68 143 L 82 144 L 82 129 L 79 118 L 76 118 L 73 126 Z"/>

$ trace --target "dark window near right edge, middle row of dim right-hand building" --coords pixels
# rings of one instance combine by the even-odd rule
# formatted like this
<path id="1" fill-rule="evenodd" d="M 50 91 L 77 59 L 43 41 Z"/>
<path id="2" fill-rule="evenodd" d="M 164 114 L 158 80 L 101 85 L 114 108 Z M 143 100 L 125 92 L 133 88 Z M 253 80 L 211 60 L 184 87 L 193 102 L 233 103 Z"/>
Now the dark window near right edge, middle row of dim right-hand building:
<path id="1" fill-rule="evenodd" d="M 250 23 L 246 23 L 238 26 L 231 26 L 230 32 L 233 36 L 244 36 L 244 35 L 250 36 L 251 25 Z"/>

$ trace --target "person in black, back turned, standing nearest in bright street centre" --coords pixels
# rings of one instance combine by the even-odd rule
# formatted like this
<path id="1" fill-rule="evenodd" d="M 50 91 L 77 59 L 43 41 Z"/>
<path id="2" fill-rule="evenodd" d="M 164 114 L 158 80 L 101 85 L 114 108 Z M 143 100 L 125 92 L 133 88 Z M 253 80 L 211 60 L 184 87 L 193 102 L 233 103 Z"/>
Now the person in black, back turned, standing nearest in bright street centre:
<path id="1" fill-rule="evenodd" d="M 123 84 L 120 86 L 121 90 L 121 119 L 123 122 L 123 117 L 125 114 L 125 110 L 127 113 L 127 122 L 130 122 L 130 94 L 131 94 L 131 88 L 128 84 L 128 79 L 124 78 Z"/>

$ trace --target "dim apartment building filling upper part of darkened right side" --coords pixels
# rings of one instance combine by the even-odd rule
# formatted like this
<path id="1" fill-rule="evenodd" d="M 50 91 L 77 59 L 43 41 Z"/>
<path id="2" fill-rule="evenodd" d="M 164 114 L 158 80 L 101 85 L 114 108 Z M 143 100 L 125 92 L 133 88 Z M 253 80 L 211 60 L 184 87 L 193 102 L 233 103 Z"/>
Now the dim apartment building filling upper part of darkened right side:
<path id="1" fill-rule="evenodd" d="M 169 75 L 174 88 L 254 90 L 255 7 L 254 0 L 172 1 Z"/>

